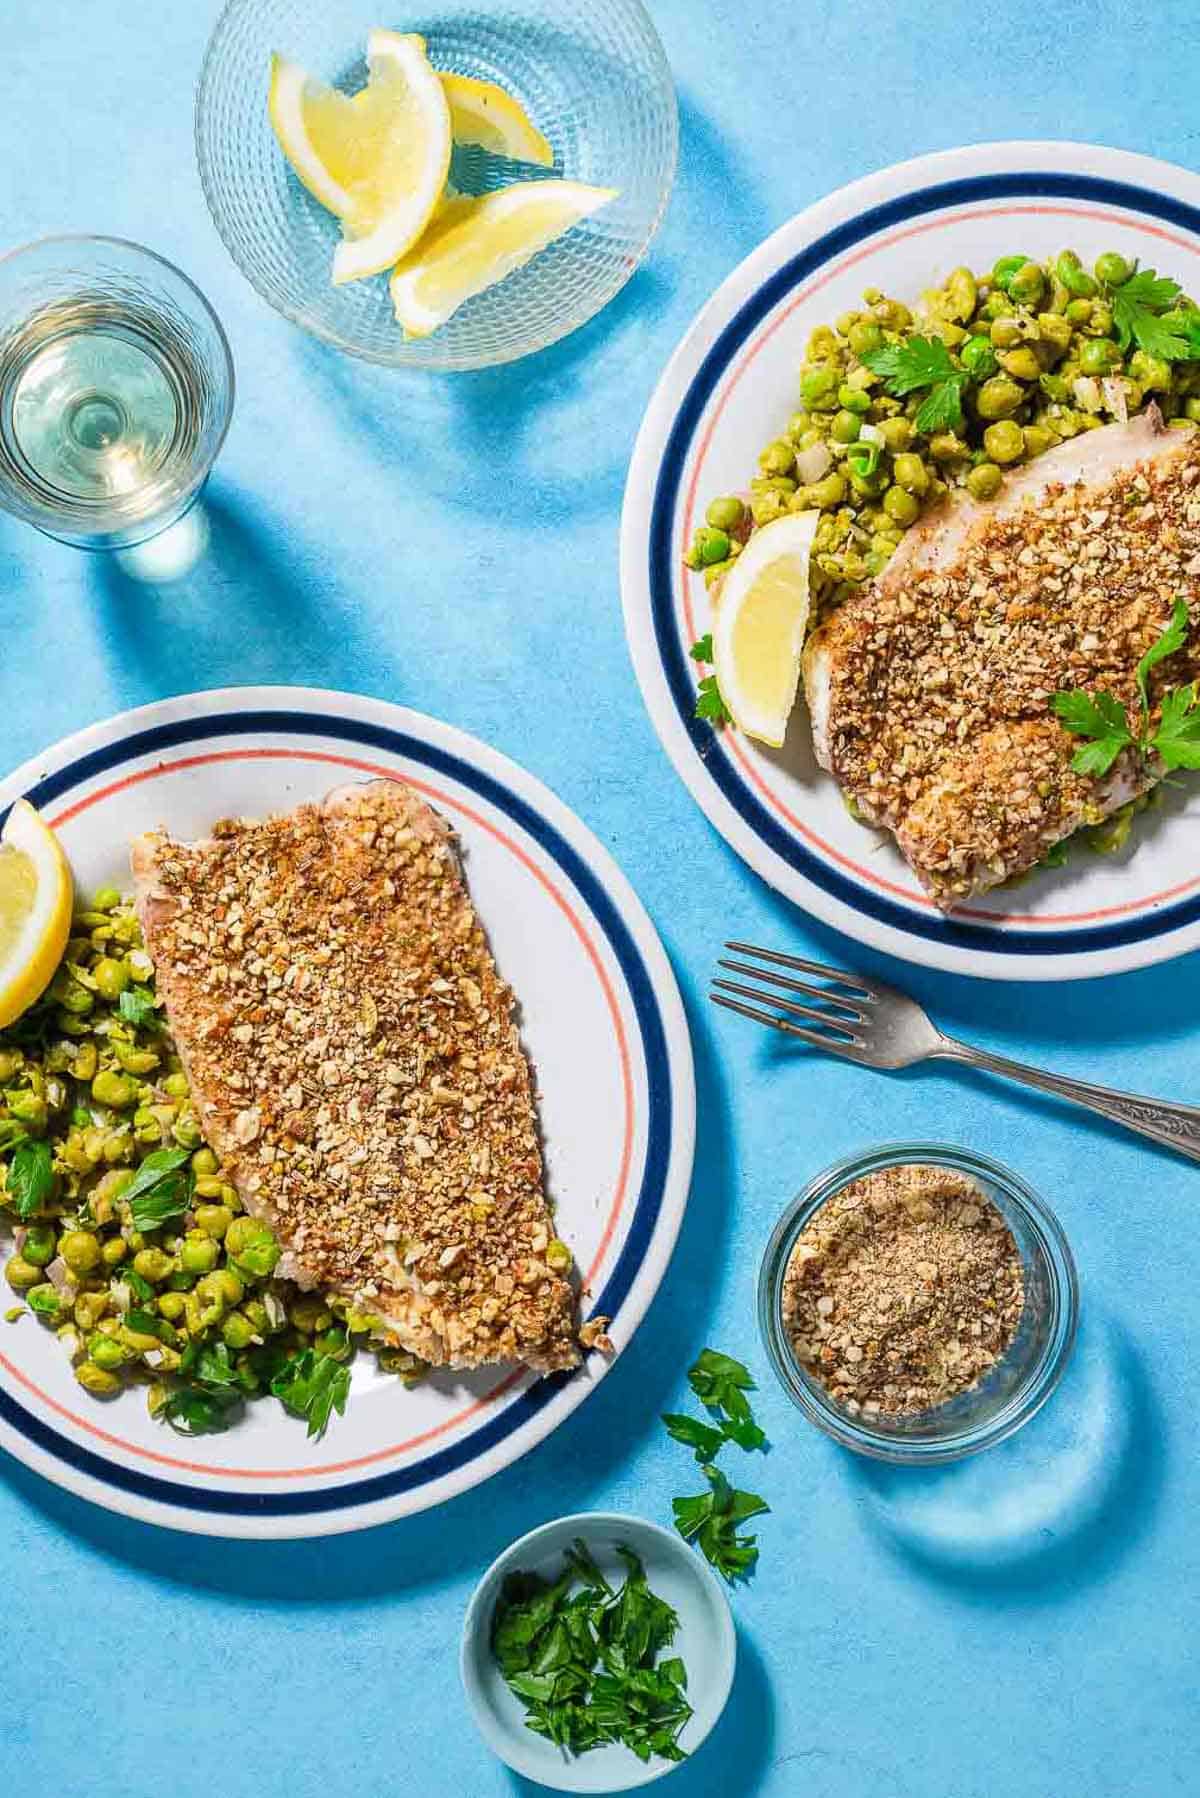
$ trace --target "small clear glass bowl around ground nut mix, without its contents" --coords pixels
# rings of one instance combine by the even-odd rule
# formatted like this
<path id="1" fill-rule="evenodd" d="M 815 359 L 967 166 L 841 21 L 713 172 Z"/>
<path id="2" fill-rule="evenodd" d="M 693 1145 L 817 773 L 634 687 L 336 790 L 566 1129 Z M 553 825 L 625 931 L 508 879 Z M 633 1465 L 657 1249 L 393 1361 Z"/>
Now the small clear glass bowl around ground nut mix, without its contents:
<path id="1" fill-rule="evenodd" d="M 883 1167 L 952 1167 L 981 1187 L 1002 1214 L 1025 1273 L 1025 1307 L 1016 1336 L 970 1392 L 914 1417 L 851 1415 L 797 1359 L 783 1322 L 783 1282 L 801 1230 L 835 1192 Z M 1076 1338 L 1079 1284 L 1067 1237 L 1054 1214 L 1007 1167 L 970 1149 L 900 1142 L 826 1169 L 783 1214 L 759 1273 L 759 1329 L 788 1397 L 826 1435 L 876 1460 L 932 1465 L 991 1447 L 1027 1424 L 1063 1377 Z"/>

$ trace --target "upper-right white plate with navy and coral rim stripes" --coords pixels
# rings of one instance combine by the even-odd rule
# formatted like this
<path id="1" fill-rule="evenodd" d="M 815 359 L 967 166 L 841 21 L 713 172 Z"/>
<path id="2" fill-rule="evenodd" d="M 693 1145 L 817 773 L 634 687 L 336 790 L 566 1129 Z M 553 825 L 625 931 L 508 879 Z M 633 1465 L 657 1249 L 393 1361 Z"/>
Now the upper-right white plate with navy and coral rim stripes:
<path id="1" fill-rule="evenodd" d="M 995 980 L 1072 980 L 1200 946 L 1200 786 L 1164 793 L 1126 849 L 941 915 L 891 838 L 846 811 L 813 759 L 802 705 L 770 752 L 694 714 L 689 645 L 711 624 L 684 550 L 714 494 L 745 489 L 797 405 L 810 331 L 864 288 L 914 302 L 959 264 L 1103 250 L 1200 295 L 1200 176 L 1090 144 L 979 144 L 838 189 L 766 239 L 702 309 L 658 383 L 621 532 L 626 635 L 667 755 L 711 823 L 772 886 L 858 942 Z"/>

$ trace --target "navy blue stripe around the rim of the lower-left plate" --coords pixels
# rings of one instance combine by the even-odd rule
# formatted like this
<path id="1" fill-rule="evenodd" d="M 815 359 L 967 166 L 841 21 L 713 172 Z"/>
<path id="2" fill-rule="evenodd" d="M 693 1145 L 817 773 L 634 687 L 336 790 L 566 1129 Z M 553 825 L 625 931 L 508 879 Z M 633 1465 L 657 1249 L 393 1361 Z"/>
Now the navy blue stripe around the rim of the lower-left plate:
<path id="1" fill-rule="evenodd" d="M 166 750 L 176 750 L 185 744 L 203 743 L 214 737 L 268 735 L 335 737 L 344 743 L 365 744 L 367 748 L 383 750 L 390 755 L 403 755 L 407 761 L 417 762 L 434 773 L 459 782 L 471 793 L 488 800 L 489 806 L 495 806 L 497 811 L 504 813 L 513 820 L 513 823 L 540 843 L 540 847 L 563 870 L 576 892 L 583 897 L 599 928 L 604 931 L 608 946 L 621 967 L 633 1000 L 633 1010 L 642 1036 L 642 1054 L 646 1057 L 649 1088 L 646 1167 L 637 1194 L 637 1205 L 630 1221 L 630 1233 L 624 1241 L 621 1255 L 617 1257 L 612 1275 L 594 1305 L 597 1313 L 604 1313 L 613 1318 L 619 1316 L 621 1305 L 628 1298 L 630 1287 L 646 1257 L 646 1250 L 649 1248 L 649 1241 L 658 1221 L 662 1190 L 671 1158 L 673 1095 L 666 1032 L 646 964 L 642 962 L 624 919 L 581 856 L 563 836 L 560 836 L 554 825 L 533 809 L 533 806 L 529 806 L 516 793 L 509 793 L 509 789 L 498 780 L 493 780 L 491 775 L 482 773 L 479 768 L 471 768 L 471 764 L 464 762 L 461 757 L 452 755 L 448 750 L 439 750 L 428 743 L 421 743 L 419 737 L 412 737 L 403 730 L 390 730 L 383 725 L 371 725 L 315 712 L 227 712 L 210 717 L 180 719 L 173 725 L 157 725 L 149 730 L 139 730 L 122 737 L 119 743 L 94 750 L 90 755 L 81 755 L 76 762 L 70 762 L 58 773 L 47 775 L 45 780 L 40 780 L 27 797 L 31 804 L 45 807 L 54 800 L 63 798 L 83 782 L 94 780 L 97 775 L 110 773 L 112 770 L 144 755 L 157 755 Z M 536 1417 L 536 1413 L 549 1404 L 549 1401 L 569 1379 L 583 1375 L 554 1374 L 536 1381 L 536 1384 L 524 1392 L 513 1404 L 507 1406 L 507 1410 L 497 1413 L 491 1422 L 471 1431 L 471 1435 L 464 1437 L 461 1442 L 437 1449 L 437 1453 L 428 1455 L 412 1467 L 401 1467 L 394 1473 L 378 1474 L 371 1480 L 356 1480 L 353 1485 L 342 1485 L 324 1492 L 234 1494 L 175 1485 L 173 1482 L 157 1480 L 151 1474 L 139 1473 L 133 1467 L 113 1465 L 99 1455 L 92 1455 L 88 1449 L 77 1447 L 67 1437 L 61 1437 L 49 1424 L 41 1422 L 41 1419 L 31 1415 L 7 1392 L 0 1392 L 0 1417 L 4 1417 L 13 1429 L 27 1437 L 29 1442 L 36 1444 L 45 1453 L 54 1455 L 56 1460 L 67 1462 L 79 1473 L 88 1474 L 92 1480 L 121 1487 L 126 1492 L 135 1492 L 139 1498 L 148 1498 L 160 1505 L 180 1505 L 187 1510 L 207 1510 L 246 1518 L 299 1516 L 324 1510 L 345 1510 L 354 1505 L 371 1505 L 383 1498 L 394 1498 L 398 1492 L 410 1492 L 416 1487 L 428 1485 L 432 1480 L 441 1480 L 444 1474 L 468 1465 L 498 1442 L 504 1442 L 506 1437 L 511 1437 L 516 1429 L 527 1424 L 531 1417 Z"/>

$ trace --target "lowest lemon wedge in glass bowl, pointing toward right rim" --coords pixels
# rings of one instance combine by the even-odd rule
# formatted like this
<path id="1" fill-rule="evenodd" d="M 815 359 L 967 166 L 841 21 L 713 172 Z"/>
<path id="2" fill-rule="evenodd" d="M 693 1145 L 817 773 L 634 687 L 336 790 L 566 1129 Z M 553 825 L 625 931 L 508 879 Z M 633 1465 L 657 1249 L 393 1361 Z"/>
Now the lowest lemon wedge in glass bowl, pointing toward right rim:
<path id="1" fill-rule="evenodd" d="M 446 200 L 390 291 L 408 336 L 428 336 L 473 293 L 493 288 L 549 243 L 617 198 L 585 182 L 516 182 L 495 194 Z"/>

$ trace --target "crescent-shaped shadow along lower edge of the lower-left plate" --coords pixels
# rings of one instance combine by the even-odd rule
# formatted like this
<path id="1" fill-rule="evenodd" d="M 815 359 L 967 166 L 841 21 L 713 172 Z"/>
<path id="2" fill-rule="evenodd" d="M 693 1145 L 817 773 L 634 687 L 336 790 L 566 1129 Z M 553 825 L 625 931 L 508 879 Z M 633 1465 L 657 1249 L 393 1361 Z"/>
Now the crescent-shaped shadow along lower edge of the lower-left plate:
<path id="1" fill-rule="evenodd" d="M 336 1604 L 401 1597 L 470 1579 L 507 1543 L 549 1518 L 588 1509 L 613 1471 L 635 1464 L 644 1437 L 662 1429 L 682 1370 L 703 1347 L 707 1318 L 729 1266 L 732 1142 L 725 1081 L 711 1039 L 694 1028 L 696 1174 L 680 1241 L 649 1316 L 596 1393 L 531 1455 L 435 1510 L 354 1535 L 306 1541 L 223 1541 L 153 1528 L 86 1505 L 0 1456 L 9 1485 L 58 1528 L 97 1553 L 155 1579 L 255 1604 Z M 606 1509 L 639 1510 L 637 1491 Z"/>

